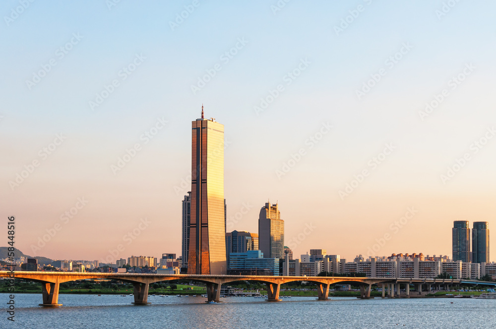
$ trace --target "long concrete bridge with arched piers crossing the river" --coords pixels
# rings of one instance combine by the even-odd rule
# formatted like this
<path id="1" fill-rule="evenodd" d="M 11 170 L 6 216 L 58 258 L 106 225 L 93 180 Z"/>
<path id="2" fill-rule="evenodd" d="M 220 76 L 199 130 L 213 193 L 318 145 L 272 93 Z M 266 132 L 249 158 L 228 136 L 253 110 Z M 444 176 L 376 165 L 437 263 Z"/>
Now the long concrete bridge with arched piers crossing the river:
<path id="1" fill-rule="evenodd" d="M 220 301 L 222 284 L 233 281 L 257 281 L 267 286 L 268 301 L 278 301 L 281 284 L 293 281 L 309 281 L 317 284 L 319 300 L 327 300 L 329 287 L 336 283 L 360 286 L 360 297 L 370 298 L 372 284 L 381 284 L 382 297 L 399 297 L 400 284 L 405 285 L 406 295 L 410 295 L 410 284 L 417 284 L 419 294 L 426 285 L 431 291 L 432 285 L 448 288 L 453 284 L 489 284 L 496 282 L 460 280 L 460 279 L 426 279 L 426 278 L 388 278 L 388 277 L 350 277 L 350 276 L 264 276 L 264 275 L 197 275 L 197 274 L 131 274 L 131 273 L 77 273 L 77 272 L 28 272 L 0 271 L 0 277 L 25 279 L 42 283 L 43 303 L 40 306 L 62 306 L 59 304 L 59 287 L 63 282 L 84 279 L 113 279 L 130 282 L 133 285 L 133 304 L 148 304 L 150 283 L 189 280 L 206 284 L 208 301 Z"/>

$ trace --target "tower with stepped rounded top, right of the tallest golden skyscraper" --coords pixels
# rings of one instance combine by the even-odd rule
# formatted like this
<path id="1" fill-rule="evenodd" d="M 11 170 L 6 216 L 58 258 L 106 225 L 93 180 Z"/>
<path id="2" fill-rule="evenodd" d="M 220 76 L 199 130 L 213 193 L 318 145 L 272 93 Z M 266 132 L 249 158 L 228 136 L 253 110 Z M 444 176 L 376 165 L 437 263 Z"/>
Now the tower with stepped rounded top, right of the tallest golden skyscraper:
<path id="1" fill-rule="evenodd" d="M 258 217 L 258 246 L 264 258 L 284 258 L 284 220 L 277 204 L 266 203 Z"/>

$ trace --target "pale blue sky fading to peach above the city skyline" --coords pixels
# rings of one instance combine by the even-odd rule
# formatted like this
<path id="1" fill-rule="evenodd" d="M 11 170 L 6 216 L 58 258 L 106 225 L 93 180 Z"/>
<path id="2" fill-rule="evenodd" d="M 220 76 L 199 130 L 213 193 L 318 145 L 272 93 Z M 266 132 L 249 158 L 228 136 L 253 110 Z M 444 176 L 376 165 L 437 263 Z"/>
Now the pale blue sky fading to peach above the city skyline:
<path id="1" fill-rule="evenodd" d="M 451 258 L 453 220 L 496 213 L 495 10 L 2 1 L 3 221 L 30 256 L 179 256 L 203 104 L 225 126 L 229 231 L 257 233 L 270 201 L 295 258 Z"/>

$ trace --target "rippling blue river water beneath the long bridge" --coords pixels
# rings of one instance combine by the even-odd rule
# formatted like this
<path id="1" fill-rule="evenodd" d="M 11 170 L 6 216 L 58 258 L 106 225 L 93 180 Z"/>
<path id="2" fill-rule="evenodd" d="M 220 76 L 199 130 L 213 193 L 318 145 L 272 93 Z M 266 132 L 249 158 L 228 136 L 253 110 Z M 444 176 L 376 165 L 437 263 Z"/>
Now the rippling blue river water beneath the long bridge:
<path id="1" fill-rule="evenodd" d="M 8 300 L 0 294 L 0 328 L 496 328 L 496 300 L 468 298 L 225 297 L 207 304 L 204 297 L 149 296 L 151 304 L 132 305 L 132 296 L 61 294 L 63 306 L 48 308 L 38 306 L 41 293 L 16 294 L 14 323 Z"/>

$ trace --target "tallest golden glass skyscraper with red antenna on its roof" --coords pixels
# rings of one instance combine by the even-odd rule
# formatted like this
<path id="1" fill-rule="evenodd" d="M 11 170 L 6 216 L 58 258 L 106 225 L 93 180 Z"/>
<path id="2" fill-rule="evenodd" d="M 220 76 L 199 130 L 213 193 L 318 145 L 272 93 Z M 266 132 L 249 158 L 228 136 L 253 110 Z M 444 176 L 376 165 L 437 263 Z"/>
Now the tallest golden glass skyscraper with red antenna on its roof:
<path id="1" fill-rule="evenodd" d="M 224 125 L 192 122 L 188 274 L 225 274 Z"/>

